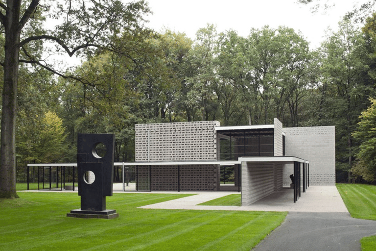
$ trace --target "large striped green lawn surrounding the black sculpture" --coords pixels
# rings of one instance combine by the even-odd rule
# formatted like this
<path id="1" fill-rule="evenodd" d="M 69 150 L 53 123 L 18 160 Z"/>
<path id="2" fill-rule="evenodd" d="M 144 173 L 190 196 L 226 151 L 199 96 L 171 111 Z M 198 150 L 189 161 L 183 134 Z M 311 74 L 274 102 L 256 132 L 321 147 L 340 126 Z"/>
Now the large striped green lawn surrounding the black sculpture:
<path id="1" fill-rule="evenodd" d="M 18 192 L 0 200 L 1 251 L 226 250 L 249 251 L 286 213 L 156 210 L 137 207 L 184 194 L 114 194 L 107 209 L 113 220 L 66 217 L 80 207 L 76 193 Z"/>

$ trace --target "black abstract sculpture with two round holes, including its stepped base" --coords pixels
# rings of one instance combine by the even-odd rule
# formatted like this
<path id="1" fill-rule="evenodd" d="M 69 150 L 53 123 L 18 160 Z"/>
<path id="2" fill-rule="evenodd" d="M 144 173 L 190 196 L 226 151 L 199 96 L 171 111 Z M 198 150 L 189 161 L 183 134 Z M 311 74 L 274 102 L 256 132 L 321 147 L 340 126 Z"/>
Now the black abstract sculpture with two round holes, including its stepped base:
<path id="1" fill-rule="evenodd" d="M 106 196 L 112 196 L 114 144 L 113 134 L 78 134 L 78 195 L 81 196 L 81 208 L 71 210 L 68 217 L 118 217 L 116 210 L 106 209 Z"/>

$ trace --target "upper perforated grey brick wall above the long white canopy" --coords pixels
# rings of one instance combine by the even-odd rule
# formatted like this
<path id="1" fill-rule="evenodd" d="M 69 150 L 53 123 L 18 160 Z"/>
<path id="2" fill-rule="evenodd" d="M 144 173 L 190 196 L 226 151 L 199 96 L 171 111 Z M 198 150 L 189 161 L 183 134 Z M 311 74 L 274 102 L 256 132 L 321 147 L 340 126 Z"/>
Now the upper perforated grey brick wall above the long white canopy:
<path id="1" fill-rule="evenodd" d="M 218 121 L 136 125 L 136 161 L 214 160 Z"/>

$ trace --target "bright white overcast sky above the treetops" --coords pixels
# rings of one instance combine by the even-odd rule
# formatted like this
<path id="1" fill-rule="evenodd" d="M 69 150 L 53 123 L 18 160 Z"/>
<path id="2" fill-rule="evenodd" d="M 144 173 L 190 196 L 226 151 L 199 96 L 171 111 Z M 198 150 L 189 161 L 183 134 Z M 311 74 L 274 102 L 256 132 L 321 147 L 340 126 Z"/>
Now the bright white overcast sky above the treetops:
<path id="1" fill-rule="evenodd" d="M 163 28 L 185 32 L 191 39 L 207 23 L 217 26 L 217 32 L 236 30 L 247 37 L 251 28 L 285 25 L 300 30 L 310 42 L 310 48 L 320 46 L 330 26 L 337 29 L 341 17 L 354 5 L 353 0 L 330 0 L 335 6 L 327 13 L 312 14 L 310 6 L 296 0 L 148 0 L 153 15 L 147 26 L 158 32 Z"/>

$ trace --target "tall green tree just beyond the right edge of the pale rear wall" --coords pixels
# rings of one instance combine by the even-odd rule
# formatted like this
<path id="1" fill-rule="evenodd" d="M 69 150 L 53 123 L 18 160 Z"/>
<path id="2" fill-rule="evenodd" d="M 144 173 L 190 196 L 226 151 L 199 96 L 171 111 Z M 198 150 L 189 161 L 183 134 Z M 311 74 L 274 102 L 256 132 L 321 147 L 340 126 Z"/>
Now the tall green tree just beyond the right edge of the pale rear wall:
<path id="1" fill-rule="evenodd" d="M 329 117 L 336 126 L 337 169 L 348 172 L 350 178 L 354 157 L 352 131 L 360 112 L 369 104 L 373 81 L 368 75 L 363 35 L 348 20 L 339 25 L 339 31 L 332 33 L 322 46 L 322 85 L 326 89 Z"/>

